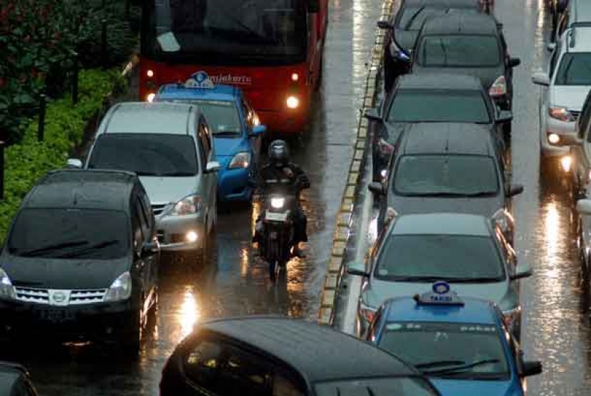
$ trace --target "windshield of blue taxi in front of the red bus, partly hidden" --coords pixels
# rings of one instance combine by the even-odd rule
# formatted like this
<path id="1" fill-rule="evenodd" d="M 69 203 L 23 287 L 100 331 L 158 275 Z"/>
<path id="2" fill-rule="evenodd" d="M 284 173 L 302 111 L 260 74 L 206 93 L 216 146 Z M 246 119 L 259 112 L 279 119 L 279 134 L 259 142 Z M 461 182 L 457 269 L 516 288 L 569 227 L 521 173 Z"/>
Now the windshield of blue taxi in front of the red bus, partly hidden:
<path id="1" fill-rule="evenodd" d="M 236 104 L 229 100 L 168 100 L 167 102 L 196 103 L 205 115 L 211 133 L 224 137 L 241 137 L 240 118 Z"/>

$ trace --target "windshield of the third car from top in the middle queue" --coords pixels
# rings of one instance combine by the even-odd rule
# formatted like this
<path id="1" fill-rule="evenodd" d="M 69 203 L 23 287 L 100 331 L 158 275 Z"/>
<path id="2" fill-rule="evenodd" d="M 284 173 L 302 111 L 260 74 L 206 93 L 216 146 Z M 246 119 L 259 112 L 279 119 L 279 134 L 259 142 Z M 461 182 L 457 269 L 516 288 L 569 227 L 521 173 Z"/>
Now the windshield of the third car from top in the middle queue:
<path id="1" fill-rule="evenodd" d="M 397 90 L 388 123 L 491 123 L 482 93 L 474 90 Z"/>

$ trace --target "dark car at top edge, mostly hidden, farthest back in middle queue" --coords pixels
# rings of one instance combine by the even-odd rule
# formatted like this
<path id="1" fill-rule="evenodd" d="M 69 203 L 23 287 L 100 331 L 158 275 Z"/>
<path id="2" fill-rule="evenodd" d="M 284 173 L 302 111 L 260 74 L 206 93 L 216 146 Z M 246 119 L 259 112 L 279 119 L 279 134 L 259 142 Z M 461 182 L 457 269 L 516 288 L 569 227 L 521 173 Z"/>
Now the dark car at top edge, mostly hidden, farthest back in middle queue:
<path id="1" fill-rule="evenodd" d="M 389 21 L 377 26 L 387 29 L 384 39 L 384 82 L 386 90 L 399 75 L 408 73 L 408 54 L 427 18 L 450 13 L 480 14 L 482 0 L 402 0 L 398 11 Z"/>

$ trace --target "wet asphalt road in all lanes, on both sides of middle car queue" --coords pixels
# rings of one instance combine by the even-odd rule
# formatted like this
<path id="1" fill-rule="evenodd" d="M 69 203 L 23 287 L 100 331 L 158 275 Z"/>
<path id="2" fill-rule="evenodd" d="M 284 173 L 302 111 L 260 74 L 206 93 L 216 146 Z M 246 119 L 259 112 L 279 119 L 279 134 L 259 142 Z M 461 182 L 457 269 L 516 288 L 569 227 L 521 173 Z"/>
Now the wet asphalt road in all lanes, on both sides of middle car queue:
<path id="1" fill-rule="evenodd" d="M 591 395 L 590 303 L 573 242 L 571 201 L 555 175 L 540 176 L 539 167 L 539 88 L 530 75 L 548 62 L 550 19 L 543 0 L 496 3 L 511 53 L 522 61 L 515 71 L 513 105 L 513 182 L 525 186 L 514 200 L 516 250 L 520 260 L 535 269 L 533 277 L 522 282 L 522 341 L 526 358 L 544 365 L 543 375 L 528 380 L 528 390 L 530 395 Z M 216 254 L 209 266 L 195 270 L 164 263 L 157 315 L 137 361 L 93 345 L 26 350 L 16 345 L 15 351 L 0 350 L 0 358 L 28 365 L 41 395 L 157 395 L 164 361 L 203 318 L 283 313 L 314 319 L 380 6 L 380 0 L 330 1 L 315 119 L 308 134 L 292 142 L 295 160 L 312 181 L 303 203 L 310 243 L 307 258 L 288 264 L 285 279 L 273 285 L 266 266 L 252 257 L 249 241 L 256 208 L 221 212 Z M 367 235 L 367 224 L 359 225 L 358 234 Z M 370 226 L 370 236 L 371 231 Z"/>

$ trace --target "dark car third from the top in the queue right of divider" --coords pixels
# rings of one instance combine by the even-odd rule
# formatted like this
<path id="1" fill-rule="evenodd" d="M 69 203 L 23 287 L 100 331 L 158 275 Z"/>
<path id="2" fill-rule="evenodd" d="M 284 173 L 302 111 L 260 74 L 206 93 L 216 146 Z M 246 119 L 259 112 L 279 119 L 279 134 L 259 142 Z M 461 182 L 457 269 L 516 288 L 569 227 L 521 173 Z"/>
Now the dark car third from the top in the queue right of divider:
<path id="1" fill-rule="evenodd" d="M 392 93 L 378 108 L 367 110 L 372 131 L 372 179 L 386 176 L 389 158 L 400 134 L 414 123 L 476 123 L 486 125 L 505 151 L 503 123 L 511 122 L 509 110 L 499 110 L 471 75 L 422 73 L 402 75 Z"/>

